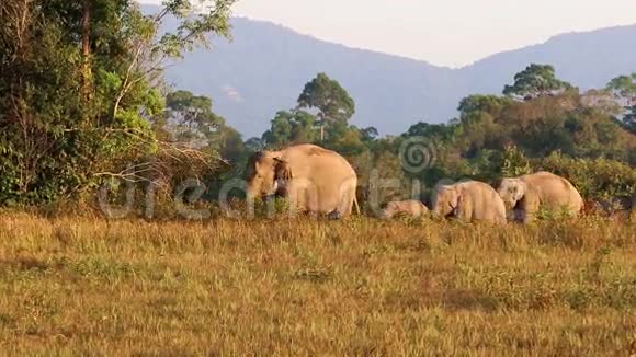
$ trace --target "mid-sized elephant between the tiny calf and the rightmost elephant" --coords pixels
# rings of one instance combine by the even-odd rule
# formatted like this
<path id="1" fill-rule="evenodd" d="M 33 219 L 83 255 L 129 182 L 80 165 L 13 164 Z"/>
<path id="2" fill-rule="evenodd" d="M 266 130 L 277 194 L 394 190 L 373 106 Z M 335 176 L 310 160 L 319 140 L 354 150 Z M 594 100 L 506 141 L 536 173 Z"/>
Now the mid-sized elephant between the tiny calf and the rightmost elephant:
<path id="1" fill-rule="evenodd" d="M 506 223 L 506 206 L 495 188 L 479 181 L 439 185 L 431 198 L 438 217 L 456 217 L 466 222 Z"/>

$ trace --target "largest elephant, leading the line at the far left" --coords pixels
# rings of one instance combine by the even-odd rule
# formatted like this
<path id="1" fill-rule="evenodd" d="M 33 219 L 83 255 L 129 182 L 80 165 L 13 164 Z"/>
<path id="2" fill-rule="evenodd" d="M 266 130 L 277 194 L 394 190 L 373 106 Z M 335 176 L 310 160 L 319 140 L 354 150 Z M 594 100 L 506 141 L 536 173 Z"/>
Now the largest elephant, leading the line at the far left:
<path id="1" fill-rule="evenodd" d="M 315 145 L 297 145 L 281 151 L 261 151 L 246 170 L 248 198 L 277 194 L 296 212 L 341 218 L 357 201 L 357 176 L 339 153 Z"/>

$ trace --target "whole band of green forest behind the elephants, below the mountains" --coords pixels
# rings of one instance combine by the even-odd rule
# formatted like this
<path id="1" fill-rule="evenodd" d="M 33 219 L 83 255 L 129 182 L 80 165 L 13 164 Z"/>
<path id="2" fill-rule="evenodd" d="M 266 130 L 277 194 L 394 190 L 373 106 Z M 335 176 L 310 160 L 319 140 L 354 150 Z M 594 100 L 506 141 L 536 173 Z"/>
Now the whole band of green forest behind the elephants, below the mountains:
<path id="1" fill-rule="evenodd" d="M 298 89 L 295 107 L 272 113 L 261 137 L 243 140 L 214 113 L 213 99 L 162 78 L 167 60 L 206 46 L 211 35 L 230 36 L 234 1 L 208 3 L 195 11 L 171 0 L 147 15 L 132 0 L 1 2 L 0 205 L 80 200 L 110 178 L 171 187 L 195 177 L 217 183 L 208 185 L 214 198 L 253 151 L 305 142 L 347 157 L 363 186 L 372 173 L 405 183 L 386 199 L 408 196 L 413 180 L 425 192 L 442 178 L 495 182 L 542 169 L 567 176 L 587 198 L 636 187 L 632 73 L 581 92 L 550 65 L 530 64 L 501 95 L 467 96 L 457 117 L 413 119 L 399 136 L 353 125 L 355 99 L 317 73 Z M 168 18 L 179 26 L 160 33 Z M 421 170 L 401 157 L 413 139 L 424 143 Z"/>

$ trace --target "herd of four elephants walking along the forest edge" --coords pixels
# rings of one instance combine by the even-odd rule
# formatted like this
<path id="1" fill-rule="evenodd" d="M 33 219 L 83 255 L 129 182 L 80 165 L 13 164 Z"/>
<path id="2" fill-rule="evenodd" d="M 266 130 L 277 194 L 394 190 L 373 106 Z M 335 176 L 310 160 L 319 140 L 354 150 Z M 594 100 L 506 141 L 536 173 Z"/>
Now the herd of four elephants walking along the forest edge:
<path id="1" fill-rule="evenodd" d="M 281 196 L 294 211 L 330 218 L 348 217 L 354 207 L 360 211 L 357 176 L 351 164 L 339 153 L 315 145 L 258 152 L 249 160 L 246 174 L 248 199 Z M 549 172 L 537 172 L 503 178 L 497 189 L 478 181 L 438 185 L 430 210 L 419 200 L 391 201 L 379 217 L 432 214 L 467 222 L 527 223 L 541 209 L 573 217 L 582 208 L 583 199 L 569 181 Z"/>

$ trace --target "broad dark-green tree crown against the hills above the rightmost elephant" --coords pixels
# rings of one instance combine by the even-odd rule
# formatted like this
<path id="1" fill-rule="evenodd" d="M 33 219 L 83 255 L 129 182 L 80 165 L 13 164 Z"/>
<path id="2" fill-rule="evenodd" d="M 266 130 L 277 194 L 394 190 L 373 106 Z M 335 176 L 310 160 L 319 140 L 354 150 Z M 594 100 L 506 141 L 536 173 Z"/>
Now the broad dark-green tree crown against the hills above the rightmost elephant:
<path id="1" fill-rule="evenodd" d="M 571 89 L 572 85 L 556 78 L 550 65 L 532 64 L 514 74 L 514 84 L 506 85 L 503 94 L 524 101 L 554 95 Z"/>

